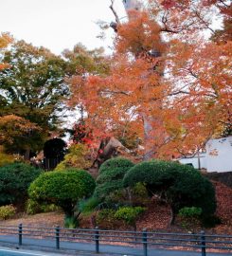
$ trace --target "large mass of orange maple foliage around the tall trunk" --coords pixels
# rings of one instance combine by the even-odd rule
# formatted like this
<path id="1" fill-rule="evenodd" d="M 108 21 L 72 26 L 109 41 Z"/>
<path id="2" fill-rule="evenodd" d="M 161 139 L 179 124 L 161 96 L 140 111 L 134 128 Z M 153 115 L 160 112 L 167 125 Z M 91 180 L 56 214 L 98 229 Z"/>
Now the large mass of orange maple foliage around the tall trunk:
<path id="1" fill-rule="evenodd" d="M 96 137 L 115 135 L 118 125 L 136 130 L 146 158 L 197 151 L 231 123 L 231 41 L 203 36 L 211 5 L 171 2 L 178 5 L 151 0 L 130 10 L 117 26 L 110 71 L 70 80 L 71 102 L 83 104 Z"/>

